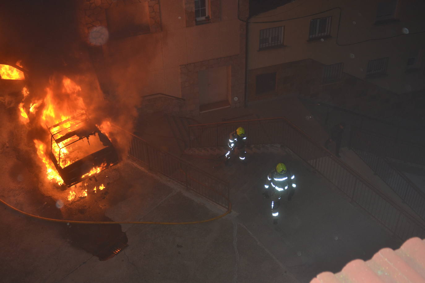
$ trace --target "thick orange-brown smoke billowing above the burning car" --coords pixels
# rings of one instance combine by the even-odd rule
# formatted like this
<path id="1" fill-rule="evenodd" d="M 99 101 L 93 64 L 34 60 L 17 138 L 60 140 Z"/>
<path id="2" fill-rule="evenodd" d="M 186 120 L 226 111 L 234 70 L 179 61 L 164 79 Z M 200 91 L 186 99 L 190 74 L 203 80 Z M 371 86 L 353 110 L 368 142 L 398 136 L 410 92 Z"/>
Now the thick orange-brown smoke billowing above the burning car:
<path id="1" fill-rule="evenodd" d="M 0 63 L 21 61 L 28 70 L 27 103 L 43 100 L 46 87 L 53 86 L 57 101 L 72 104 L 69 98 L 62 97 L 60 90 L 59 82 L 66 76 L 81 86 L 80 96 L 95 123 L 110 119 L 131 132 L 141 90 L 148 78 L 146 66 L 150 58 L 144 56 L 144 48 L 158 43 L 139 41 L 135 47 L 133 39 L 127 39 L 127 43 L 125 40 L 108 42 L 109 52 L 105 56 L 104 48 L 88 46 L 81 38 L 77 3 L 3 1 L 0 4 Z M 42 129 L 34 127 L 29 138 L 43 134 Z M 125 145 L 120 144 L 119 148 Z"/>

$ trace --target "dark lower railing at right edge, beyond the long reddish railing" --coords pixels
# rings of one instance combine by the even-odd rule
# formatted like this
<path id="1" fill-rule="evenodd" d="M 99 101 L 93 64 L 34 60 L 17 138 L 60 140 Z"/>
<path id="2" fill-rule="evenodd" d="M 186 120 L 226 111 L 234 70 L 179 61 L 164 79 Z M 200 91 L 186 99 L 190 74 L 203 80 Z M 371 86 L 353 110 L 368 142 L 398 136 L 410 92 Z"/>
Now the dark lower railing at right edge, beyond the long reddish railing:
<path id="1" fill-rule="evenodd" d="M 414 212 L 425 220 L 425 193 L 385 157 L 353 148 L 353 151 L 388 185 Z"/>

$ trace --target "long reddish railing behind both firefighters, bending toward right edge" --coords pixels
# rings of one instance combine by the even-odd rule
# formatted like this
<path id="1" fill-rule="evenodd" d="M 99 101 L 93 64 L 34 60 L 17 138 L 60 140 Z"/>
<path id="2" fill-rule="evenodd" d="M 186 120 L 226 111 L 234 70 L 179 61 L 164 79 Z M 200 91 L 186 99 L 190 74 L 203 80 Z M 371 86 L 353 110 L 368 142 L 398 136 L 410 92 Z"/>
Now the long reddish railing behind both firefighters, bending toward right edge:
<path id="1" fill-rule="evenodd" d="M 245 128 L 251 144 L 281 143 L 333 183 L 394 235 L 425 237 L 425 224 L 382 194 L 360 174 L 284 117 L 190 125 L 192 147 L 224 146 L 229 132 Z"/>

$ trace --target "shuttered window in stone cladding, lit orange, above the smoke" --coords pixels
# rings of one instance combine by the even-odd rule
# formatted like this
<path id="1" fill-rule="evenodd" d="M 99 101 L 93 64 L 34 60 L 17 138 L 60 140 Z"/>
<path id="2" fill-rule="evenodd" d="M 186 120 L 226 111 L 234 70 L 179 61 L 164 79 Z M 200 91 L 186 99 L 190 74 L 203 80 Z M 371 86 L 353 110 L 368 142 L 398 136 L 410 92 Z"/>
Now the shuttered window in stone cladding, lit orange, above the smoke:
<path id="1" fill-rule="evenodd" d="M 106 9 L 111 37 L 122 38 L 150 32 L 147 2 L 120 5 Z"/>

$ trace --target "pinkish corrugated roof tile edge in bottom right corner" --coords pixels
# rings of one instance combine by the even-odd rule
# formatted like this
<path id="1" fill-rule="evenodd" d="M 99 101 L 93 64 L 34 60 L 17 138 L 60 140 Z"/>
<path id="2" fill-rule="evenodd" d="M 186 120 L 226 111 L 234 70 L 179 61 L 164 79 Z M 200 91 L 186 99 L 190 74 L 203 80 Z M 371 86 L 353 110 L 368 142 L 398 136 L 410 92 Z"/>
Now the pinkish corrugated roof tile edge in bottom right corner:
<path id="1" fill-rule="evenodd" d="M 425 239 L 414 237 L 397 250 L 380 249 L 370 260 L 355 259 L 341 272 L 322 272 L 310 283 L 424 282 Z"/>

